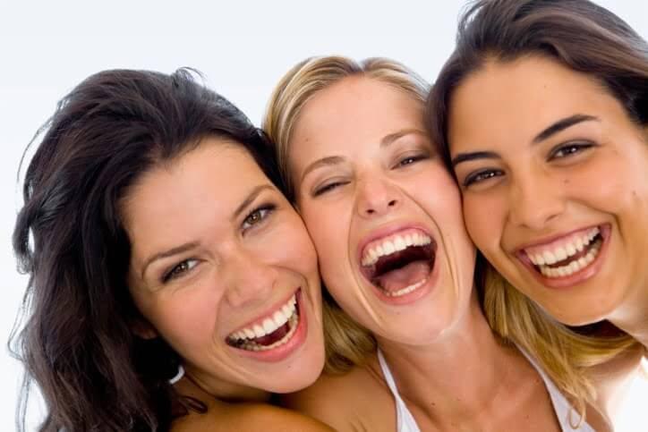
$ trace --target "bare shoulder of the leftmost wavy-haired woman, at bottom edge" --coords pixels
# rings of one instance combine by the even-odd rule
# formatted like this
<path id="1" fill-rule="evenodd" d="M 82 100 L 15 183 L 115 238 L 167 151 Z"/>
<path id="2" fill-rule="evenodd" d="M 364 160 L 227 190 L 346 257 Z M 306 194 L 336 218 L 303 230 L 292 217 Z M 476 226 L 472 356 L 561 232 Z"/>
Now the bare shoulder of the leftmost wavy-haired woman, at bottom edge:
<path id="1" fill-rule="evenodd" d="M 333 429 L 316 419 L 295 411 L 262 403 L 226 404 L 212 407 L 204 414 L 192 412 L 176 419 L 172 432 L 263 430 L 268 432 L 300 430 L 330 432 Z"/>

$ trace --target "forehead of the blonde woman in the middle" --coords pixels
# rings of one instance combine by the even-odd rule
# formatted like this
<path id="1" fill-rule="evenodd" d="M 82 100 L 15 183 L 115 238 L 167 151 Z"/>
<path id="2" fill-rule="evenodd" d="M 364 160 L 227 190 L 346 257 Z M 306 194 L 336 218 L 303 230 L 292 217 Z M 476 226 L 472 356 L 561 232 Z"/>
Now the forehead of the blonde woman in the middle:
<path id="1" fill-rule="evenodd" d="M 378 141 L 402 129 L 423 129 L 422 103 L 396 85 L 347 77 L 303 106 L 291 139 L 294 159 L 352 143 Z"/>

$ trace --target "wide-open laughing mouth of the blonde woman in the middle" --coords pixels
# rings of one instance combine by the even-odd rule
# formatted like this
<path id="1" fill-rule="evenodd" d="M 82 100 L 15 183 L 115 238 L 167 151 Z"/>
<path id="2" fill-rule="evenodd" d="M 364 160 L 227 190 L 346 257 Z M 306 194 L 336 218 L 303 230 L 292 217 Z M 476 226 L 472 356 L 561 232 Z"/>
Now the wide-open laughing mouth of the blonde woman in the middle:
<path id="1" fill-rule="evenodd" d="M 388 297 L 401 297 L 428 282 L 437 243 L 418 229 L 371 241 L 362 250 L 362 275 Z"/>

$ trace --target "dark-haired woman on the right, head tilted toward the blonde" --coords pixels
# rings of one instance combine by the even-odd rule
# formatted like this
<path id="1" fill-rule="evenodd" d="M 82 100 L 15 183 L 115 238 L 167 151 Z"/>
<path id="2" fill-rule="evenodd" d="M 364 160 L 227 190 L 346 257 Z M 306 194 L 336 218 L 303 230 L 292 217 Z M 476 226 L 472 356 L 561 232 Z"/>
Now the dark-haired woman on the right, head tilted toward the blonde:
<path id="1" fill-rule="evenodd" d="M 468 232 L 519 290 L 490 286 L 491 325 L 534 356 L 547 314 L 565 331 L 591 325 L 578 331 L 598 346 L 571 356 L 582 369 L 644 350 L 644 38 L 587 0 L 482 0 L 429 102 Z"/>

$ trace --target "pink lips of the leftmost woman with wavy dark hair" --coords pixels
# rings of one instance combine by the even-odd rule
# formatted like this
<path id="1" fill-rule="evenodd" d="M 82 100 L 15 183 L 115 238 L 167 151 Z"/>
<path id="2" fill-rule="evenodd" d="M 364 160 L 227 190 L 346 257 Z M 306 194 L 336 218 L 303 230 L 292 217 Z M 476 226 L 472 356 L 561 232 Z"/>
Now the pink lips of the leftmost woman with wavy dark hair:
<path id="1" fill-rule="evenodd" d="M 306 336 L 308 335 L 308 323 L 307 323 L 308 316 L 306 313 L 306 308 L 303 305 L 302 288 L 300 287 L 297 289 L 296 292 L 291 293 L 290 296 L 286 297 L 286 300 L 283 303 L 277 302 L 277 304 L 275 305 L 275 309 L 272 309 L 272 313 L 274 313 L 278 309 L 278 307 L 286 303 L 286 301 L 288 301 L 288 299 L 290 299 L 290 297 L 292 297 L 293 294 L 297 301 L 297 313 L 299 314 L 299 322 L 297 323 L 297 328 L 294 331 L 293 337 L 291 337 L 288 342 L 284 343 L 283 345 L 277 346 L 276 348 L 273 348 L 271 350 L 261 351 L 261 352 L 248 351 L 240 348 L 235 348 L 226 343 L 227 348 L 234 350 L 237 355 L 252 360 L 265 361 L 269 363 L 275 363 L 278 361 L 286 360 L 286 358 L 290 357 L 306 342 Z M 270 315 L 265 315 L 263 318 L 259 318 L 259 319 L 262 320 L 268 318 Z M 259 319 L 251 321 L 251 324 L 258 323 Z M 242 326 L 240 328 L 244 328 L 244 327 L 245 326 Z"/>

